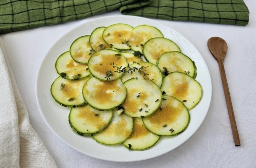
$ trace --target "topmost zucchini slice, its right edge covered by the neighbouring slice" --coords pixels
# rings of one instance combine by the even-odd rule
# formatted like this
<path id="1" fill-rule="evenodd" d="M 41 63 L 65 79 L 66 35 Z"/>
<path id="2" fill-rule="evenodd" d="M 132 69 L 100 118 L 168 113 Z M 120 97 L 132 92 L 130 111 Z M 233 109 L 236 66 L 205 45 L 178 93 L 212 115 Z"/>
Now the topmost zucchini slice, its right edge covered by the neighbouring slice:
<path id="1" fill-rule="evenodd" d="M 128 40 L 133 30 L 132 26 L 123 23 L 117 23 L 108 26 L 102 34 L 106 43 L 120 50 L 129 50 Z"/>

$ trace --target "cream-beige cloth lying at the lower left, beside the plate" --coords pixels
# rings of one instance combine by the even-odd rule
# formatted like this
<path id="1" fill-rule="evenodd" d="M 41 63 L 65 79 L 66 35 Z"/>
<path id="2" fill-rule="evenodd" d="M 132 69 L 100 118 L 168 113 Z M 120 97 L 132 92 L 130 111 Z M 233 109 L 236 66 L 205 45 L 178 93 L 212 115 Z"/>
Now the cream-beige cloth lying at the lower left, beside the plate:
<path id="1" fill-rule="evenodd" d="M 0 79 L 0 167 L 56 168 L 52 156 L 29 123 L 1 38 Z"/>

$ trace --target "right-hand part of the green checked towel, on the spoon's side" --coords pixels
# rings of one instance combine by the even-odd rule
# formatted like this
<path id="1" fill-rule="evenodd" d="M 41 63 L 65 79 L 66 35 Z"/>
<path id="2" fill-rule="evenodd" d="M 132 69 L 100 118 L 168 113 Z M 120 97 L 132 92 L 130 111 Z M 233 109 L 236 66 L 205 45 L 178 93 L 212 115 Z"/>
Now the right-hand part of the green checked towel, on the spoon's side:
<path id="1" fill-rule="evenodd" d="M 146 6 L 131 4 L 122 14 L 176 21 L 245 26 L 249 10 L 243 0 L 152 0 Z"/>

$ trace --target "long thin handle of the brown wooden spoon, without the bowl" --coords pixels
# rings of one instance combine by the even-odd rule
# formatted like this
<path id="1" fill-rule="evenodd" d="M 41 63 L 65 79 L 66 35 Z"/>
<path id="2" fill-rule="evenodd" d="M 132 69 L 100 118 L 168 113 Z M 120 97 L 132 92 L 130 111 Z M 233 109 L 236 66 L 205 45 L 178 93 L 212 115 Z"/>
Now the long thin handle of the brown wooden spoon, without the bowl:
<path id="1" fill-rule="evenodd" d="M 223 60 L 219 61 L 218 65 L 221 73 L 221 81 L 222 81 L 226 104 L 228 108 L 228 115 L 229 115 L 231 130 L 233 134 L 233 139 L 235 142 L 235 146 L 240 146 L 240 139 L 239 139 L 239 135 L 236 127 L 236 120 L 235 120 L 234 110 L 233 110 L 233 106 L 230 98 L 229 89 L 228 89 L 228 82 L 227 82 L 227 78 L 224 70 Z"/>

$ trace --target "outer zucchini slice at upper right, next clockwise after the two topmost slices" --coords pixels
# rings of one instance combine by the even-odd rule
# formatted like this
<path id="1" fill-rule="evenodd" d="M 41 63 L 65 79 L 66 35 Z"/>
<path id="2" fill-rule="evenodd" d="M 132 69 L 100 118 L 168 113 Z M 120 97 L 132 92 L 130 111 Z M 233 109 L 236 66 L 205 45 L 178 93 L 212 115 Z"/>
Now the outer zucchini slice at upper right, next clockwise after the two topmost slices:
<path id="1" fill-rule="evenodd" d="M 164 53 L 169 51 L 181 51 L 176 43 L 163 38 L 155 37 L 148 40 L 143 46 L 143 55 L 148 62 L 156 64 L 157 59 Z"/>

